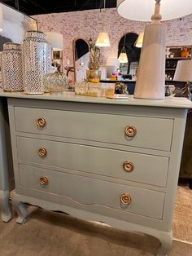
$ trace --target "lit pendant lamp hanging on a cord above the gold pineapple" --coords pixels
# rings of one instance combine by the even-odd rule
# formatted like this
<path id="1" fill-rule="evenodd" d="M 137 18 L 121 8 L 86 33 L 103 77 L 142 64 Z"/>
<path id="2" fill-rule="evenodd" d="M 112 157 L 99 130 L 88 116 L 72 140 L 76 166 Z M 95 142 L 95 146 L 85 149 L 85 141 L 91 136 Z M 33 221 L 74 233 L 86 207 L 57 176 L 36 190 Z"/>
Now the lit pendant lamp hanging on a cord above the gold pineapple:
<path id="1" fill-rule="evenodd" d="M 103 11 L 103 15 L 106 16 L 105 3 L 106 3 L 106 0 L 104 0 L 104 11 Z M 109 40 L 109 35 L 106 32 L 105 19 L 104 19 L 105 16 L 103 16 L 102 31 L 100 33 L 98 33 L 98 39 L 95 43 L 95 46 L 98 46 L 98 47 L 111 46 L 110 40 Z"/>

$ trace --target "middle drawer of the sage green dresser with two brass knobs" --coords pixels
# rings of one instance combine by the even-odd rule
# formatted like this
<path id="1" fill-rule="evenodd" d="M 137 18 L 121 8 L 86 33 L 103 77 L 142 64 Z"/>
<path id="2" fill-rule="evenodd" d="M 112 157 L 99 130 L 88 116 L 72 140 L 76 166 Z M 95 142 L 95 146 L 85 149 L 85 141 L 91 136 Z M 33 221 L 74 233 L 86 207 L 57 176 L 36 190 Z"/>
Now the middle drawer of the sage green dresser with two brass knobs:
<path id="1" fill-rule="evenodd" d="M 17 137 L 20 161 L 166 186 L 168 157 Z"/>

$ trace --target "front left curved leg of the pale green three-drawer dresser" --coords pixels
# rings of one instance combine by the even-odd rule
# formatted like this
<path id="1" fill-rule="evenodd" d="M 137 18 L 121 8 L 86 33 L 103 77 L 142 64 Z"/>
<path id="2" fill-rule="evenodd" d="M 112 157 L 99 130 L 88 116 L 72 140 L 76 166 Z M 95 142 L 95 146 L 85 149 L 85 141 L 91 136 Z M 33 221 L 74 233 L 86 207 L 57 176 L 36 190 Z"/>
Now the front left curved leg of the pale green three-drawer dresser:
<path id="1" fill-rule="evenodd" d="M 15 207 L 15 210 L 18 214 L 16 222 L 24 224 L 28 215 L 28 211 L 24 203 L 22 203 L 20 200 L 17 200 L 16 195 L 13 197 L 13 206 Z"/>

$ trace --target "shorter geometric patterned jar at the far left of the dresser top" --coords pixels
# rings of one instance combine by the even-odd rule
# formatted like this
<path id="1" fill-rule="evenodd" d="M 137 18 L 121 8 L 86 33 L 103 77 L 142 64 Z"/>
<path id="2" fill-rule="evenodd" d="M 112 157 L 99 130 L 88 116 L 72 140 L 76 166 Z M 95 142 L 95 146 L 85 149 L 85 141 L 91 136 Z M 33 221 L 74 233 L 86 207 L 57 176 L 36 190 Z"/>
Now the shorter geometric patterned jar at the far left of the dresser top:
<path id="1" fill-rule="evenodd" d="M 2 89 L 20 91 L 23 87 L 21 45 L 7 42 L 0 55 L 2 70 Z"/>

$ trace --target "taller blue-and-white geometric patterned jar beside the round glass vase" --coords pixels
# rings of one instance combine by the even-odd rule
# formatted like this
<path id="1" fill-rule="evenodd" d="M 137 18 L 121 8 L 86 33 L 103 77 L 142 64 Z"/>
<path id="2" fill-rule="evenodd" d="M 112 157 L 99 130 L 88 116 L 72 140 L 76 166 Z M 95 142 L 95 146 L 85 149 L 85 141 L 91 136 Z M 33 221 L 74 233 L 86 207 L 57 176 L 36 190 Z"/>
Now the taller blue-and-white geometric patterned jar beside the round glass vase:
<path id="1" fill-rule="evenodd" d="M 22 43 L 24 92 L 42 94 L 45 91 L 43 77 L 51 68 L 51 48 L 45 34 L 28 31 Z"/>

